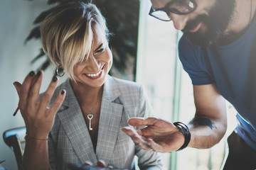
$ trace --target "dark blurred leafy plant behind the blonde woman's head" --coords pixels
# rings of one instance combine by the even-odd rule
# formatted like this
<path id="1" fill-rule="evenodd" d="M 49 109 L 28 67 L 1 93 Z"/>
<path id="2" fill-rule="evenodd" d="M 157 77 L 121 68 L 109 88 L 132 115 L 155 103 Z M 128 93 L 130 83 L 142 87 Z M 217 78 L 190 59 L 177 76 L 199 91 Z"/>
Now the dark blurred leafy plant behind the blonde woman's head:
<path id="1" fill-rule="evenodd" d="M 40 26 L 44 18 L 53 11 L 56 6 L 68 1 L 78 0 L 48 0 L 47 4 L 50 8 L 43 11 L 33 21 L 33 29 L 29 33 L 25 40 L 35 38 L 40 39 Z M 81 0 L 80 0 L 81 1 Z M 120 74 L 122 78 L 134 81 L 136 72 L 136 58 L 137 58 L 137 36 L 138 36 L 138 23 L 139 23 L 139 0 L 83 0 L 85 3 L 93 3 L 102 12 L 107 21 L 107 27 L 112 35 L 110 36 L 110 47 L 113 53 L 113 66 L 110 70 L 110 74 Z M 50 60 L 40 49 L 39 54 L 31 61 L 31 64 L 35 63 L 42 57 L 46 57 L 46 60 L 38 67 L 38 70 L 46 70 L 50 66 Z M 132 64 L 131 64 L 132 59 Z M 132 68 L 132 70 L 130 69 Z M 127 72 L 129 69 L 129 72 Z M 127 74 L 132 74 L 127 75 Z"/>

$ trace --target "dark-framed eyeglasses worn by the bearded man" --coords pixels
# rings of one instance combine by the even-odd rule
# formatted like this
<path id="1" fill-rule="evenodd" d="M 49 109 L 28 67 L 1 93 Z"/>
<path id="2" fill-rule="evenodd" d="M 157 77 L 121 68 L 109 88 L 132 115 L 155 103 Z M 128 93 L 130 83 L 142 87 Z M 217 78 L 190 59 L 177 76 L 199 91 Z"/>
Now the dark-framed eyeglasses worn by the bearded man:
<path id="1" fill-rule="evenodd" d="M 186 15 L 195 11 L 197 7 L 196 2 L 189 0 L 174 0 L 164 6 L 164 8 L 154 9 L 151 6 L 149 16 L 153 16 L 161 21 L 171 21 L 169 13 L 176 13 L 178 15 Z"/>

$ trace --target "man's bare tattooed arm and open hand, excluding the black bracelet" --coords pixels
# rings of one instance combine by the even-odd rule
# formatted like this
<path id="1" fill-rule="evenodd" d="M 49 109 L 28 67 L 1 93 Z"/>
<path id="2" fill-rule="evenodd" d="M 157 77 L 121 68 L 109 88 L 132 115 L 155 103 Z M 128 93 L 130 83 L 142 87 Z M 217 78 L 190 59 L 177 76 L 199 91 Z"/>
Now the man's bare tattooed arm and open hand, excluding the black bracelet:
<path id="1" fill-rule="evenodd" d="M 215 84 L 193 86 L 196 115 L 188 124 L 191 141 L 188 147 L 209 148 L 217 144 L 227 127 L 225 99 L 218 92 Z M 124 127 L 135 144 L 143 149 L 156 152 L 173 152 L 178 150 L 185 139 L 178 128 L 167 120 L 159 118 L 131 118 L 129 125 L 144 126 L 141 130 Z"/>

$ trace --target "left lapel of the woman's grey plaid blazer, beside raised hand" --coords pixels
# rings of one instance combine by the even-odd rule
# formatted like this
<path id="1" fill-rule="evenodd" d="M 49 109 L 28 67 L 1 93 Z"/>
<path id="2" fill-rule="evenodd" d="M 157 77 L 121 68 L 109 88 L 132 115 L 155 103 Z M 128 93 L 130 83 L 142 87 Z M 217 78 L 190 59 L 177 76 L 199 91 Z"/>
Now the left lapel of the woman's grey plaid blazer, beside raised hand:
<path id="1" fill-rule="evenodd" d="M 67 109 L 58 113 L 60 122 L 62 123 L 80 162 L 90 161 L 95 163 L 97 162 L 97 158 L 85 120 L 82 116 L 82 111 L 80 110 L 80 106 L 71 87 L 70 80 L 65 82 L 64 88 L 66 89 L 67 94 L 63 106 L 66 106 Z"/>

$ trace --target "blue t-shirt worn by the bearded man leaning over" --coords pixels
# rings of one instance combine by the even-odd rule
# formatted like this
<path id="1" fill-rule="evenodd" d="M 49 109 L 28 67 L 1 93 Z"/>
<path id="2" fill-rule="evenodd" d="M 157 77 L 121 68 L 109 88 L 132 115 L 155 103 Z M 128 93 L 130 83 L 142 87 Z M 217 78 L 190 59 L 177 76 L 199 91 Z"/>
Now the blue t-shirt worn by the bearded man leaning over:
<path id="1" fill-rule="evenodd" d="M 193 85 L 216 84 L 238 111 L 238 135 L 256 149 L 256 17 L 229 45 L 196 47 L 183 35 L 178 55 Z"/>

